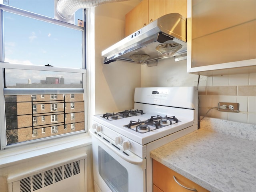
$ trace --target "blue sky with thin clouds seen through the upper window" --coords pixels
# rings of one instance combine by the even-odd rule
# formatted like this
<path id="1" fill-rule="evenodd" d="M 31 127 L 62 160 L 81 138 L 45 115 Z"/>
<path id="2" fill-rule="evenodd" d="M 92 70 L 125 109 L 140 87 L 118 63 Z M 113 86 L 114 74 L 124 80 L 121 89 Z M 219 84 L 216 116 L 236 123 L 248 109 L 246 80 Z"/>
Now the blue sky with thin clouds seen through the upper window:
<path id="1" fill-rule="evenodd" d="M 54 18 L 54 0 L 9 0 L 9 5 Z M 82 10 L 76 15 L 82 19 Z M 77 17 L 76 19 L 77 20 Z M 82 68 L 80 31 L 4 13 L 7 62 Z"/>

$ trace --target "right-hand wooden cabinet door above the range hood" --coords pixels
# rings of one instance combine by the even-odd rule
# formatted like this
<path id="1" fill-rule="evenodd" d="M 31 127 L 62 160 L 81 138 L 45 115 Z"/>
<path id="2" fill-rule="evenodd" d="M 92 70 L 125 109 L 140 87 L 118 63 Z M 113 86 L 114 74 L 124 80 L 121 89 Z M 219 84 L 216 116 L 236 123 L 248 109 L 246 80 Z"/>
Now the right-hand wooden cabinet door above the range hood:
<path id="1" fill-rule="evenodd" d="M 148 0 L 148 23 L 159 17 L 169 14 L 179 13 L 187 17 L 186 0 Z"/>

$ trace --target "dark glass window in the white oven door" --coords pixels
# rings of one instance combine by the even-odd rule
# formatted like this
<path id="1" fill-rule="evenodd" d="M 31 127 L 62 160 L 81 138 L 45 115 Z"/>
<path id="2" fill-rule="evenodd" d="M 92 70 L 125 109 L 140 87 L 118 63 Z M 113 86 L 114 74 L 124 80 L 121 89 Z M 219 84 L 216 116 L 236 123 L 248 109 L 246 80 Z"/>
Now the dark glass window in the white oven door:
<path id="1" fill-rule="evenodd" d="M 110 154 L 98 146 L 99 174 L 113 192 L 128 192 L 128 172 Z"/>

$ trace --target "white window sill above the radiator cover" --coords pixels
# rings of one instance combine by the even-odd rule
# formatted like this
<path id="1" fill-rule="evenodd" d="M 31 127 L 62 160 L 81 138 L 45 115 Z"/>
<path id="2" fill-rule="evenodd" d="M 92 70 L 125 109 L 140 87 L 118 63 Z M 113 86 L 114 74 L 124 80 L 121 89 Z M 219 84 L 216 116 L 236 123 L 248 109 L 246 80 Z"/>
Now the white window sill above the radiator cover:
<path id="1" fill-rule="evenodd" d="M 33 158 L 49 155 L 54 152 L 65 152 L 76 148 L 81 148 L 92 144 L 92 139 L 88 133 L 56 138 L 53 140 L 41 141 L 28 144 L 24 147 L 17 146 L 2 150 L 0 152 L 0 168 L 27 162 Z"/>

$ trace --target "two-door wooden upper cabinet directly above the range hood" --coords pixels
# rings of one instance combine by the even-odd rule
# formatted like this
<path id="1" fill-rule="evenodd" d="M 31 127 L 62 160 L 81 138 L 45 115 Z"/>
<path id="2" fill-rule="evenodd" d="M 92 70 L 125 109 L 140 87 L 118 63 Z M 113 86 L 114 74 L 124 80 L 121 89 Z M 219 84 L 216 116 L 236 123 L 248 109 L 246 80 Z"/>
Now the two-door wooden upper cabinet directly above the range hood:
<path id="1" fill-rule="evenodd" d="M 159 17 L 179 13 L 187 17 L 186 0 L 142 0 L 138 6 L 125 16 L 125 36 L 141 29 Z"/>

